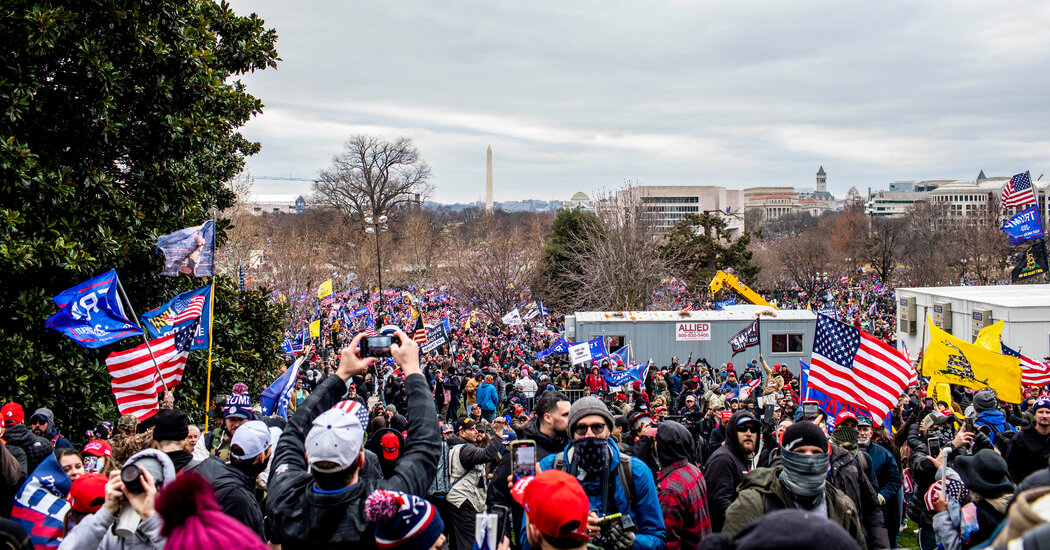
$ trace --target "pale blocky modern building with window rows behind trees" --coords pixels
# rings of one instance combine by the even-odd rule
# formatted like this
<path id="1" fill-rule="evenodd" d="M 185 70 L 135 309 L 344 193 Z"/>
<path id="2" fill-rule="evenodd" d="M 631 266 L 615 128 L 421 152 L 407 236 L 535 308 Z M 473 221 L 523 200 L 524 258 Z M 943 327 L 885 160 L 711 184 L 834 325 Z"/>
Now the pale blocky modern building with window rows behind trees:
<path id="1" fill-rule="evenodd" d="M 730 236 L 743 233 L 743 191 L 717 186 L 637 186 L 616 193 L 622 205 L 653 214 L 667 231 L 688 214 L 705 212 L 726 220 Z"/>

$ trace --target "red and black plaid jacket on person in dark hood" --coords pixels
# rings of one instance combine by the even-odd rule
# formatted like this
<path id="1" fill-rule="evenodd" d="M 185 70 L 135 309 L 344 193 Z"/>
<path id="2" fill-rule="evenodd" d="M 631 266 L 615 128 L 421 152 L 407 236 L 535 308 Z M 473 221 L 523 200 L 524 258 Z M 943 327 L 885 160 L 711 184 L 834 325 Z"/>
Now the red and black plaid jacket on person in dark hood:
<path id="1" fill-rule="evenodd" d="M 711 532 L 704 473 L 689 461 L 680 460 L 660 470 L 656 484 L 667 527 L 667 549 L 698 547 L 704 535 Z"/>

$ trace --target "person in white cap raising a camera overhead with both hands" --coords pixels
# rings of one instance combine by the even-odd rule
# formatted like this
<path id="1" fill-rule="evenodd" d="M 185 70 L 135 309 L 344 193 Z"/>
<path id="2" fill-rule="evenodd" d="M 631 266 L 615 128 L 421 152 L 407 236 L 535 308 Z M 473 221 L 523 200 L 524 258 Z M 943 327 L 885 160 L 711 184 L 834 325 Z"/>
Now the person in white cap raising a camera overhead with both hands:
<path id="1" fill-rule="evenodd" d="M 340 352 L 335 376 L 302 402 L 277 442 L 267 484 L 267 528 L 286 550 L 376 548 L 365 499 L 375 489 L 426 494 L 438 469 L 438 411 L 420 371 L 419 345 L 397 330 L 399 341 L 390 353 L 405 375 L 408 437 L 391 479 L 359 477 L 368 411 L 356 401 L 340 400 L 351 378 L 377 361 L 361 356 L 363 338 L 358 334 Z"/>

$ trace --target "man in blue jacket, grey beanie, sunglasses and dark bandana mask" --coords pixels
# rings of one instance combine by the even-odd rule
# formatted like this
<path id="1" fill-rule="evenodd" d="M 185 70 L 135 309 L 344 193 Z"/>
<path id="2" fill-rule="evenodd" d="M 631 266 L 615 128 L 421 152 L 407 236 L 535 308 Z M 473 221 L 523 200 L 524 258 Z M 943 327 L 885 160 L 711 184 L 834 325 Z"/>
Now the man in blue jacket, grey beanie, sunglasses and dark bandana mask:
<path id="1" fill-rule="evenodd" d="M 572 442 L 564 451 L 541 461 L 540 470 L 567 471 L 580 480 L 590 501 L 588 529 L 592 534 L 605 531 L 605 548 L 664 548 L 664 516 L 653 474 L 640 460 L 621 454 L 610 438 L 612 426 L 612 415 L 605 403 L 595 397 L 580 399 L 569 408 Z M 615 513 L 623 516 L 611 526 L 600 523 L 600 519 Z M 628 517 L 634 524 L 633 530 Z"/>

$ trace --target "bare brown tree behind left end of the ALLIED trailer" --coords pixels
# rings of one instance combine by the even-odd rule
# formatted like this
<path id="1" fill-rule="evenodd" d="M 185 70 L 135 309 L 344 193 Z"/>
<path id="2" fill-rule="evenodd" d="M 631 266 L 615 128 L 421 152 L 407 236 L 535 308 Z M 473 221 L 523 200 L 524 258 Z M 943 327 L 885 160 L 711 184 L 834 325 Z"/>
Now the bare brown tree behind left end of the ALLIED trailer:
<path id="1" fill-rule="evenodd" d="M 632 197 L 630 188 L 618 193 Z M 595 202 L 601 226 L 573 249 L 575 270 L 568 274 L 580 293 L 571 300 L 581 310 L 647 310 L 669 262 L 660 252 L 662 235 L 655 219 L 629 198 L 607 194 Z"/>

